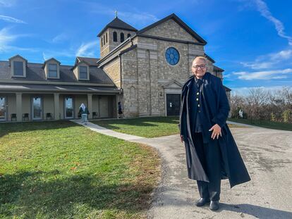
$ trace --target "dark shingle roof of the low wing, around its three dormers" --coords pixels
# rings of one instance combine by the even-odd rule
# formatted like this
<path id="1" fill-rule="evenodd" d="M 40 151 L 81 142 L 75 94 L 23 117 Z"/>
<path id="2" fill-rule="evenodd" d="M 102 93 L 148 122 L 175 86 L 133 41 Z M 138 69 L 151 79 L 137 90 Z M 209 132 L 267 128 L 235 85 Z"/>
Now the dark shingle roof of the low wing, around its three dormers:
<path id="1" fill-rule="evenodd" d="M 46 79 L 44 75 L 43 64 L 28 63 L 26 67 L 26 77 L 12 77 L 11 67 L 8 61 L 0 61 L 0 80 L 23 80 L 23 81 L 36 81 L 36 82 L 74 82 L 74 83 L 95 83 L 95 84 L 108 84 L 114 85 L 107 73 L 101 68 L 90 66 L 90 80 L 78 80 L 72 69 L 72 65 L 60 65 L 60 78 L 59 79 Z"/>

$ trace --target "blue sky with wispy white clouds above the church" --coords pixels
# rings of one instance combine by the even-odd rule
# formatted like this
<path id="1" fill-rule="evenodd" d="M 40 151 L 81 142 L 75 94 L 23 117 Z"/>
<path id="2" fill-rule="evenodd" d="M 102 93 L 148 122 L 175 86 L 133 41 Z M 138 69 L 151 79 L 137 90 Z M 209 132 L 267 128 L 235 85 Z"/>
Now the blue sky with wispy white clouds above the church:
<path id="1" fill-rule="evenodd" d="M 97 34 L 114 11 L 138 30 L 176 13 L 207 41 L 205 52 L 234 92 L 291 87 L 291 8 L 284 0 L 0 0 L 0 60 L 20 54 L 72 65 L 75 56 L 99 58 Z"/>

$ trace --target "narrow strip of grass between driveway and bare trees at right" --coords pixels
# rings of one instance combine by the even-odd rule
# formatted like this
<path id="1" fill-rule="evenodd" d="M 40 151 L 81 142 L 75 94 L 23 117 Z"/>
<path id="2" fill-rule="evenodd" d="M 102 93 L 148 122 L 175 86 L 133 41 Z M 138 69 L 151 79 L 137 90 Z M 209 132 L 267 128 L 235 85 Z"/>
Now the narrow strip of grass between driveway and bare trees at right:
<path id="1" fill-rule="evenodd" d="M 274 130 L 292 131 L 291 123 L 279 123 L 279 122 L 272 122 L 272 121 L 266 121 L 266 120 L 252 120 L 251 122 L 249 119 L 243 119 L 243 118 L 229 118 L 228 120 L 232 122 L 236 122 L 236 123 L 267 127 Z"/>

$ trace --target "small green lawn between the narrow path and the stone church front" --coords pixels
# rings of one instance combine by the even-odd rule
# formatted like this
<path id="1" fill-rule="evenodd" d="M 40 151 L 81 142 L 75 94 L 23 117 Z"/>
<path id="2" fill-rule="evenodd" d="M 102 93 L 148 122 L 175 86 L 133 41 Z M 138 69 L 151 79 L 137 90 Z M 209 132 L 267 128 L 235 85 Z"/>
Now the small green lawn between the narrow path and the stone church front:
<path id="1" fill-rule="evenodd" d="M 116 132 L 134 134 L 141 137 L 160 137 L 178 134 L 178 116 L 147 117 L 90 121 Z"/>

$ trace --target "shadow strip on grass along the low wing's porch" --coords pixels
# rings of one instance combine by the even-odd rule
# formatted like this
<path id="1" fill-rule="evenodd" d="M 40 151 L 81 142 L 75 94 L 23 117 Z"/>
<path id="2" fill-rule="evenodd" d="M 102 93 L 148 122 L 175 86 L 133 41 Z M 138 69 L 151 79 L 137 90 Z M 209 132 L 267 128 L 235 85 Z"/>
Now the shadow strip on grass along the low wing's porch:
<path id="1" fill-rule="evenodd" d="M 56 130 L 66 127 L 79 126 L 68 120 L 45 121 L 45 122 L 23 122 L 23 123 L 0 123 L 0 137 L 12 132 L 30 132 L 39 130 Z"/>

